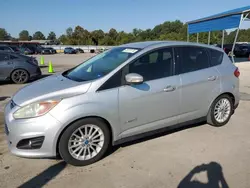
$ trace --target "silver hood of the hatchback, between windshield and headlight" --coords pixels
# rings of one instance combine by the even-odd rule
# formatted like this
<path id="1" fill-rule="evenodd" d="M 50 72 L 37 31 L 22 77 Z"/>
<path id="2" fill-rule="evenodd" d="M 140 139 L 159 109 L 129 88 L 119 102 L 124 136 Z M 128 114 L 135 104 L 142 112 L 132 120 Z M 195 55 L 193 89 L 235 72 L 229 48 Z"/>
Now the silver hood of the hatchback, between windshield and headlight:
<path id="1" fill-rule="evenodd" d="M 43 100 L 63 99 L 86 93 L 90 85 L 91 81 L 76 82 L 58 74 L 23 87 L 12 100 L 18 106 L 25 106 Z"/>

